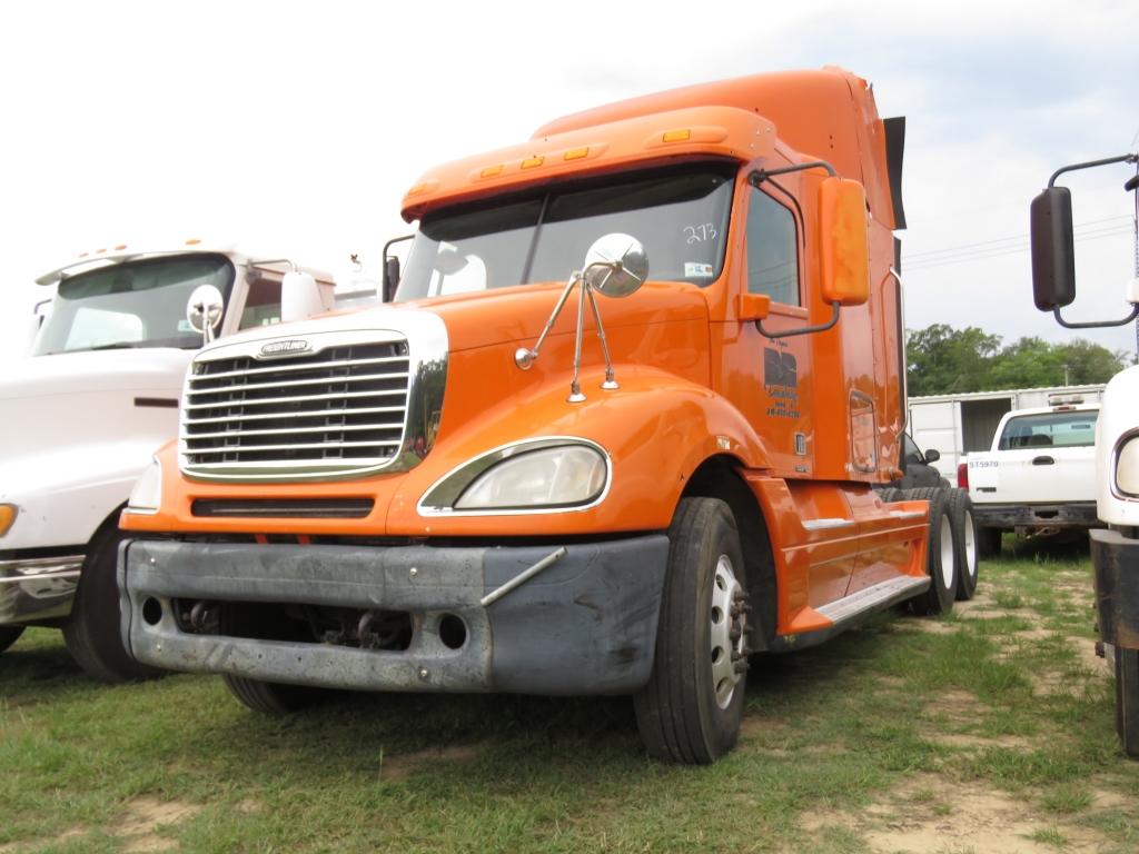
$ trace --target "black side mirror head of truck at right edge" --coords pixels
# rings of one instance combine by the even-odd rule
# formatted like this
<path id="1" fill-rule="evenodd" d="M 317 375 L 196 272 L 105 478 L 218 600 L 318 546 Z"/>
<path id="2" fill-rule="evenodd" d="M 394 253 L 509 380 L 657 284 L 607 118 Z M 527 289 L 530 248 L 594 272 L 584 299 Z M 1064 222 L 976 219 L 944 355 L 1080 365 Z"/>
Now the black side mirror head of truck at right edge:
<path id="1" fill-rule="evenodd" d="M 1031 219 L 1032 297 L 1040 311 L 1054 311 L 1075 299 L 1072 191 L 1049 187 L 1032 199 Z"/>

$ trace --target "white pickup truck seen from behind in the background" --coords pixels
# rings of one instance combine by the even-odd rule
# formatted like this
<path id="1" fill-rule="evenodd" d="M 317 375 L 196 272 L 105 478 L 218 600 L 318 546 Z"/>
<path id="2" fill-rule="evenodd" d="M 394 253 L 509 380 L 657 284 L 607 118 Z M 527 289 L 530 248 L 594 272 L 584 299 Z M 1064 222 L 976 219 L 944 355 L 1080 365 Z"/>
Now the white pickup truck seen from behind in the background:
<path id="1" fill-rule="evenodd" d="M 966 455 L 958 485 L 973 499 L 982 555 L 1000 551 L 1005 531 L 1035 536 L 1098 525 L 1098 404 L 1014 410 L 989 452 Z"/>

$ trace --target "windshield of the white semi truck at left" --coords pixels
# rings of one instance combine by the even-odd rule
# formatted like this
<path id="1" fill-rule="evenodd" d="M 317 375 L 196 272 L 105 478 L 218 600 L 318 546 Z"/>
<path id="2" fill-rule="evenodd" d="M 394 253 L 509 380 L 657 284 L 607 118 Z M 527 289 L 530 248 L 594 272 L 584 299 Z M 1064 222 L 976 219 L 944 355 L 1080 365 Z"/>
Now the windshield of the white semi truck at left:
<path id="1" fill-rule="evenodd" d="M 59 282 L 35 355 L 117 347 L 197 350 L 202 334 L 186 319 L 199 285 L 223 297 L 233 265 L 223 255 L 183 255 L 103 266 Z"/>

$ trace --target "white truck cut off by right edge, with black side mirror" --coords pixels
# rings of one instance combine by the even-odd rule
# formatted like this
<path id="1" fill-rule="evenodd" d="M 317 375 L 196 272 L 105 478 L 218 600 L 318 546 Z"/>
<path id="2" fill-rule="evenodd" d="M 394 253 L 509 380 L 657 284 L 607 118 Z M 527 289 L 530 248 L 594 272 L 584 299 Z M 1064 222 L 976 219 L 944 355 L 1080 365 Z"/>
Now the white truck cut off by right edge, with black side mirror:
<path id="1" fill-rule="evenodd" d="M 1032 202 L 1033 298 L 1068 329 L 1124 326 L 1139 318 L 1139 269 L 1126 285 L 1125 315 L 1090 322 L 1063 315 L 1075 301 L 1075 241 L 1072 194 L 1057 180 L 1076 170 L 1117 165 L 1137 167 L 1124 183 L 1134 194 L 1139 154 L 1132 153 L 1063 166 Z M 1115 730 L 1124 753 L 1139 757 L 1139 366 L 1116 373 L 1104 391 L 1095 457 L 1096 512 L 1106 525 L 1090 532 L 1097 630 L 1115 671 Z"/>

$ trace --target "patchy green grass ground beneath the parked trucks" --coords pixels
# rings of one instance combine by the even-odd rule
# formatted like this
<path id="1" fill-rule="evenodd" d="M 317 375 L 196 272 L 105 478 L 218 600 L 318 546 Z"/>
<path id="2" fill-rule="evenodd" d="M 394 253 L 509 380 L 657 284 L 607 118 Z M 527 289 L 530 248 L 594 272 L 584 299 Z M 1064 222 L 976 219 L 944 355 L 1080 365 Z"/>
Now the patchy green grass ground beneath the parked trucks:
<path id="1" fill-rule="evenodd" d="M 1087 552 L 1017 547 L 982 572 L 976 616 L 884 615 L 756 659 L 740 744 L 696 769 L 645 758 L 622 698 L 334 695 L 268 718 L 215 678 L 95 684 L 31 631 L 0 656 L 0 854 L 861 854 L 909 849 L 892 827 L 962 827 L 978 797 L 1034 845 L 1133 851 L 1136 811 L 1097 806 L 1139 803 L 1139 773 L 1076 646 Z"/>

